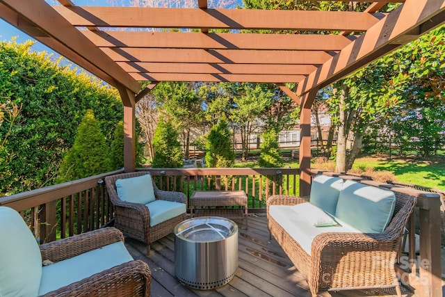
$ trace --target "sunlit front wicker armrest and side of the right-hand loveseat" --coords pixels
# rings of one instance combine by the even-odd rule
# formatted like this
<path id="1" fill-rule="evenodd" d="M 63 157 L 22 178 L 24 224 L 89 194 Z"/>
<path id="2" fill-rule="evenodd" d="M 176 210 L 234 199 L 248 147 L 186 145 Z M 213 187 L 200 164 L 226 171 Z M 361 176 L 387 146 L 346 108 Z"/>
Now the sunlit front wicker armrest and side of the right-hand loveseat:
<path id="1" fill-rule="evenodd" d="M 398 238 L 391 239 L 385 232 L 319 234 L 311 247 L 312 287 L 318 290 L 339 283 L 351 287 L 370 286 L 371 278 L 359 279 L 364 275 L 379 275 L 384 284 L 396 282 L 394 263 L 398 246 Z M 346 279 L 348 277 L 350 279 Z"/>

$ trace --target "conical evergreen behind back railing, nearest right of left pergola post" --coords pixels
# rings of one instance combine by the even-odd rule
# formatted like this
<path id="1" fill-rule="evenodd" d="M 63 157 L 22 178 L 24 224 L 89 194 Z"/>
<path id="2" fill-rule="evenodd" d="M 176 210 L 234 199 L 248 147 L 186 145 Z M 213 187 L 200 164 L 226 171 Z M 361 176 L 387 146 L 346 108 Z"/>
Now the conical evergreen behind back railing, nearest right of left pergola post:
<path id="1" fill-rule="evenodd" d="M 173 128 L 172 122 L 164 122 L 159 119 L 158 127 L 154 131 L 153 149 L 154 168 L 180 168 L 184 166 L 184 154 L 181 150 L 181 143 L 177 140 L 178 133 Z"/>

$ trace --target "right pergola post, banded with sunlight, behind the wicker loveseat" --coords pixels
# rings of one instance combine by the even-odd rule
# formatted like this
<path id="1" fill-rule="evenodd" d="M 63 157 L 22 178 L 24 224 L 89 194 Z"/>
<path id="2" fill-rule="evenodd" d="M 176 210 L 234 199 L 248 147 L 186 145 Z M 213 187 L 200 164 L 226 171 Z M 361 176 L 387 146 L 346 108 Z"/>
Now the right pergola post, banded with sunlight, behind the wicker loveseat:
<path id="1" fill-rule="evenodd" d="M 312 90 L 302 96 L 300 111 L 300 196 L 311 192 L 311 106 L 316 97 Z"/>

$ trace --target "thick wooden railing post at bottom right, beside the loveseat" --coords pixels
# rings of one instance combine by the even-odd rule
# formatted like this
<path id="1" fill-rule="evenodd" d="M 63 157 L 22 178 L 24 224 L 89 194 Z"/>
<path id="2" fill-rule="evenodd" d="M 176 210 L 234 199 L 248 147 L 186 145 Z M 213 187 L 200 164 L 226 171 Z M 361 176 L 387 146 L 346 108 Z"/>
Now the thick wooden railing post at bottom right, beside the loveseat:
<path id="1" fill-rule="evenodd" d="M 438 194 L 421 194 L 419 209 L 421 297 L 442 296 L 442 255 L 440 205 Z"/>

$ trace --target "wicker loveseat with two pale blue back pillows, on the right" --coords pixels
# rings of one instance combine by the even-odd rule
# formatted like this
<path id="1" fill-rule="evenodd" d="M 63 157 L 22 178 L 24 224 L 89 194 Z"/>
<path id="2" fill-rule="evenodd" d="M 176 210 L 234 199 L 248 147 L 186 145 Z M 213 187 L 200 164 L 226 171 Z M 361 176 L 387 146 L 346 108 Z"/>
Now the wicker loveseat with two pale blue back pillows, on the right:
<path id="1" fill-rule="evenodd" d="M 268 228 L 312 296 L 341 289 L 401 289 L 394 263 L 416 198 L 318 175 L 309 197 L 273 195 Z M 374 223 L 376 223 L 374 225 Z"/>

